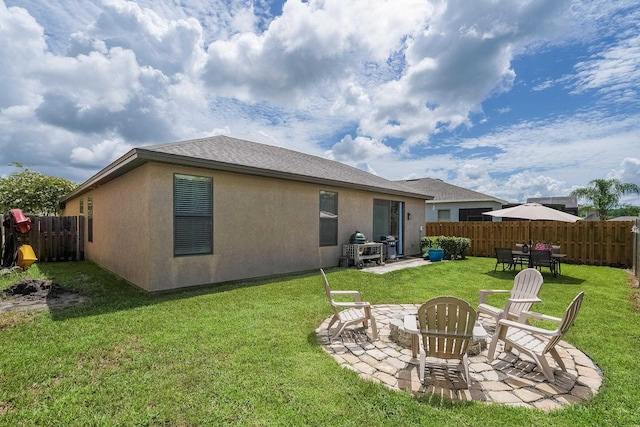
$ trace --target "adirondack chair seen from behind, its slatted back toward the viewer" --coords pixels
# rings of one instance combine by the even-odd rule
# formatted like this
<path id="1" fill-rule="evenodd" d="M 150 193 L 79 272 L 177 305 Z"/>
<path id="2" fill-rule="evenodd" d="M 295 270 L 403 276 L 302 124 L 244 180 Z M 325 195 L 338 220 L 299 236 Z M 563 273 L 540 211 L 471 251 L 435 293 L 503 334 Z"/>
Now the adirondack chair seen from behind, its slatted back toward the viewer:
<path id="1" fill-rule="evenodd" d="M 457 359 L 469 387 L 467 348 L 473 337 L 475 321 L 475 310 L 468 302 L 456 297 L 432 298 L 418 308 L 421 382 L 424 383 L 427 357 Z"/>

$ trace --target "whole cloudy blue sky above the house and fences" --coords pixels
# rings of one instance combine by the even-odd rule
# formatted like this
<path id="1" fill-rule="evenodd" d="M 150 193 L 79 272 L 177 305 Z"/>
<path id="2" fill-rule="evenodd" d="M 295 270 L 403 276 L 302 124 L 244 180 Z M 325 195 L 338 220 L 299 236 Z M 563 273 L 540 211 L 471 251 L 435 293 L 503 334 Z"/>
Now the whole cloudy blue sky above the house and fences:
<path id="1" fill-rule="evenodd" d="M 640 185 L 637 1 L 0 0 L 0 40 L 4 176 L 224 133 L 510 202 Z"/>

